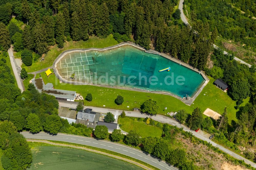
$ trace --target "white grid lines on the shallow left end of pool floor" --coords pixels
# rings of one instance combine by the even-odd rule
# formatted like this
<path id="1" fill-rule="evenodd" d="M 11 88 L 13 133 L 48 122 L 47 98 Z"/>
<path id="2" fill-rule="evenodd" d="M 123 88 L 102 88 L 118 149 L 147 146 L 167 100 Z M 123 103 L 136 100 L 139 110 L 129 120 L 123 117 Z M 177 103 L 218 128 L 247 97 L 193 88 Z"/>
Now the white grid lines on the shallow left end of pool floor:
<path id="1" fill-rule="evenodd" d="M 79 79 L 85 82 L 91 82 L 89 65 L 92 65 L 92 55 L 86 52 L 71 52 L 66 54 L 57 64 L 57 69 L 61 72 L 63 78 L 68 79 L 73 73 Z"/>

